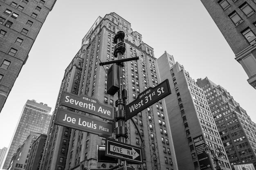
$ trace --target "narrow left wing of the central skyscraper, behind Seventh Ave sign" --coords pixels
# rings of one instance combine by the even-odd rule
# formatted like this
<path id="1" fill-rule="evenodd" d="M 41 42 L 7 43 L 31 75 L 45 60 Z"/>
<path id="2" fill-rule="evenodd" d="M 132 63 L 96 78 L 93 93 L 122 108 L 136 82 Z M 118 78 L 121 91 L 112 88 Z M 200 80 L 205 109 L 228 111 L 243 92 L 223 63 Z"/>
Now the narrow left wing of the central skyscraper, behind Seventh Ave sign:
<path id="1" fill-rule="evenodd" d="M 49 125 L 47 142 L 45 144 L 45 150 L 43 153 L 43 159 L 40 164 L 40 170 L 65 169 L 67 151 L 70 143 L 71 128 L 55 125 L 54 120 L 56 119 L 56 111 L 59 107 L 62 91 L 67 91 L 76 95 L 78 94 L 79 84 L 82 79 L 81 75 L 84 56 L 85 51 L 83 49 L 79 50 L 79 52 L 76 54 L 76 56 L 65 70 L 64 77 L 61 82 L 59 96 L 56 101 L 56 107 L 51 118 L 52 123 Z"/>

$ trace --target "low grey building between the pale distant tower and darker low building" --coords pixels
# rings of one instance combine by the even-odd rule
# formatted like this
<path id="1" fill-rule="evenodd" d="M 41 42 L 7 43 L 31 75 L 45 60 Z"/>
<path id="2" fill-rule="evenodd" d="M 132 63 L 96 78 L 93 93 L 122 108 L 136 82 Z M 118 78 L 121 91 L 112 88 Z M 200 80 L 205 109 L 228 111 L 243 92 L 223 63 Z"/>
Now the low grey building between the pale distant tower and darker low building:
<path id="1" fill-rule="evenodd" d="M 31 152 L 31 146 L 39 135 L 39 133 L 30 132 L 27 139 L 18 147 L 16 153 L 13 154 L 8 168 L 9 170 L 23 170 L 27 167 L 27 160 L 29 153 Z"/>

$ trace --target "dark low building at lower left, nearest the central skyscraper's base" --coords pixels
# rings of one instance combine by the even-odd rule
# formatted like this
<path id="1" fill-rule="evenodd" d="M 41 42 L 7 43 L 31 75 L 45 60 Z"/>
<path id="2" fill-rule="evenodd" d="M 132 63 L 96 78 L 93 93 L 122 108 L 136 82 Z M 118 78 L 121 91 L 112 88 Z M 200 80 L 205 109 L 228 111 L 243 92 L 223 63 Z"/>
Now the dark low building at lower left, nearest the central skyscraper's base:
<path id="1" fill-rule="evenodd" d="M 27 159 L 26 170 L 39 170 L 43 158 L 43 151 L 46 144 L 47 135 L 41 134 L 32 144 Z"/>

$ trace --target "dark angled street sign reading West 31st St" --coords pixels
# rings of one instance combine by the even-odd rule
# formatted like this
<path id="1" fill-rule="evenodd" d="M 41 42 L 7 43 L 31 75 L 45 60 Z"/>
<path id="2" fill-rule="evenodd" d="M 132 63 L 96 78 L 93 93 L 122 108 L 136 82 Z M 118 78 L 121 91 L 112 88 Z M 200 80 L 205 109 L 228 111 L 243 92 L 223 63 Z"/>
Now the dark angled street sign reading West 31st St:
<path id="1" fill-rule="evenodd" d="M 126 120 L 132 118 L 133 116 L 137 115 L 137 113 L 146 109 L 148 106 L 151 106 L 170 94 L 171 89 L 168 79 L 164 80 L 154 88 L 147 88 L 138 95 L 137 99 L 126 105 Z"/>

